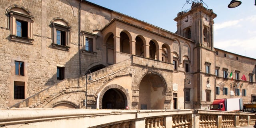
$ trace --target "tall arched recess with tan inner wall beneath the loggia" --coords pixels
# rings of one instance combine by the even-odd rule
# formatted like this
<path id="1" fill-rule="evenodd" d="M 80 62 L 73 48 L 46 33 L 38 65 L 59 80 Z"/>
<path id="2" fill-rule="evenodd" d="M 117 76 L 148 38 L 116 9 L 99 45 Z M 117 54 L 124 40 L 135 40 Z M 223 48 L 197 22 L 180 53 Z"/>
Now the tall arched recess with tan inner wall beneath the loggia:
<path id="1" fill-rule="evenodd" d="M 167 84 L 162 75 L 153 70 L 148 71 L 138 86 L 138 109 L 164 109 L 166 88 Z"/>

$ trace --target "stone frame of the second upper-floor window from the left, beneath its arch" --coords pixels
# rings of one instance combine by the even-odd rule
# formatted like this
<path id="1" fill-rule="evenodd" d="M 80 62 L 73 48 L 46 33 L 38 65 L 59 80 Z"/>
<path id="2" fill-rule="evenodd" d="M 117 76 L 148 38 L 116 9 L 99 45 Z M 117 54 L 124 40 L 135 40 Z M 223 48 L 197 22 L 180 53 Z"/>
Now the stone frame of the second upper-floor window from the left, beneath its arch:
<path id="1" fill-rule="evenodd" d="M 57 43 L 57 31 L 62 32 L 62 35 L 65 32 L 64 34 L 65 45 L 62 45 L 63 43 L 61 42 L 60 42 L 60 45 Z M 60 38 L 63 38 L 63 36 L 60 35 Z M 70 27 L 52 22 L 52 48 L 69 51 L 70 49 L 69 44 L 70 44 Z"/>

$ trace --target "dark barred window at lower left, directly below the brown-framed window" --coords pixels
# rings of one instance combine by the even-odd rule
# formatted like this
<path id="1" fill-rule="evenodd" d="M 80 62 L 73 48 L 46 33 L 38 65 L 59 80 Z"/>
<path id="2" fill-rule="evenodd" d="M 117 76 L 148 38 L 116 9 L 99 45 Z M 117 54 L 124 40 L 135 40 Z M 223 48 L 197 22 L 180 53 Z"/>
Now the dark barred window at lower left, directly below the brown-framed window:
<path id="1" fill-rule="evenodd" d="M 14 81 L 14 99 L 25 99 L 25 82 Z"/>

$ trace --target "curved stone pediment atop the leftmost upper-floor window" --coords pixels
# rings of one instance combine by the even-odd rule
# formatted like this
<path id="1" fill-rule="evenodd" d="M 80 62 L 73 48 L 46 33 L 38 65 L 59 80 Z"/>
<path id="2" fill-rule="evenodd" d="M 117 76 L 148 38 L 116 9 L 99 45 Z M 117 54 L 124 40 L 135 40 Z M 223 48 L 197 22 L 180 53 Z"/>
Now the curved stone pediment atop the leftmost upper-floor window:
<path id="1" fill-rule="evenodd" d="M 31 12 L 24 6 L 21 5 L 17 5 L 17 4 L 13 4 L 11 6 L 9 6 L 6 11 L 5 14 L 8 16 L 8 13 L 10 12 L 10 10 L 14 11 L 14 12 L 18 12 L 21 14 L 25 14 L 25 15 L 29 15 L 32 16 Z M 32 16 L 33 17 L 33 16 Z"/>

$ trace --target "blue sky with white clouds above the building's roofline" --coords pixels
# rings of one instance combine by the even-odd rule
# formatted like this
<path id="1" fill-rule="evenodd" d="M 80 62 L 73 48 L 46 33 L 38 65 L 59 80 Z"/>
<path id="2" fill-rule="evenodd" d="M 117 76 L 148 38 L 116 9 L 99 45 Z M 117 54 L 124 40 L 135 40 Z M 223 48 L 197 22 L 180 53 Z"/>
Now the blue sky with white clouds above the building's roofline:
<path id="1" fill-rule="evenodd" d="M 186 0 L 88 0 L 110 10 L 176 32 L 173 20 Z M 191 0 L 190 0 L 191 1 Z M 231 0 L 203 0 L 217 17 L 214 19 L 214 47 L 256 59 L 256 6 L 254 0 L 241 0 L 228 8 Z M 186 4 L 183 10 L 190 8 Z M 205 7 L 207 7 L 205 6 Z"/>

